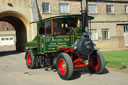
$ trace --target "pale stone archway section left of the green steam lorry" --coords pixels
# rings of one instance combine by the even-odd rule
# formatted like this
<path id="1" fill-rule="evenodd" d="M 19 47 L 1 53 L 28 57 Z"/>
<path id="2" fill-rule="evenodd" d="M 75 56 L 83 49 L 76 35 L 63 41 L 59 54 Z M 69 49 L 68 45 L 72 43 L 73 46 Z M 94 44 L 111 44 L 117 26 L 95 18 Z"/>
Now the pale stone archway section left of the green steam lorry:
<path id="1" fill-rule="evenodd" d="M 16 33 L 16 50 L 25 49 L 25 43 L 36 36 L 31 0 L 0 0 L 0 21 L 10 23 Z"/>

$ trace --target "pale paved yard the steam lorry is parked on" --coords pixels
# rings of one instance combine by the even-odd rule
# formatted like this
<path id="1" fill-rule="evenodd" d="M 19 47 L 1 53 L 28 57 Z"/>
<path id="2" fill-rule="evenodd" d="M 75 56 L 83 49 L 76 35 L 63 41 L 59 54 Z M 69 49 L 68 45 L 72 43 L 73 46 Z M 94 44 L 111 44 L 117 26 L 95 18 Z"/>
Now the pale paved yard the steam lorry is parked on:
<path id="1" fill-rule="evenodd" d="M 28 69 L 24 54 L 0 47 L 0 85 L 128 85 L 127 72 L 110 68 L 100 75 L 76 71 L 72 80 L 62 80 L 55 69 Z"/>

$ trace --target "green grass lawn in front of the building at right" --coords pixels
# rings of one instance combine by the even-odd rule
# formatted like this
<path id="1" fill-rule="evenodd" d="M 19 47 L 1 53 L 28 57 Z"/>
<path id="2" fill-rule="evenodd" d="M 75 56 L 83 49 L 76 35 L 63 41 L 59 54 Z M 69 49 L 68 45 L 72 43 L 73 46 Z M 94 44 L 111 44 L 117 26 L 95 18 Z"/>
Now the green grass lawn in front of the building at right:
<path id="1" fill-rule="evenodd" d="M 128 66 L 128 50 L 102 51 L 106 65 L 116 68 L 126 68 Z"/>

